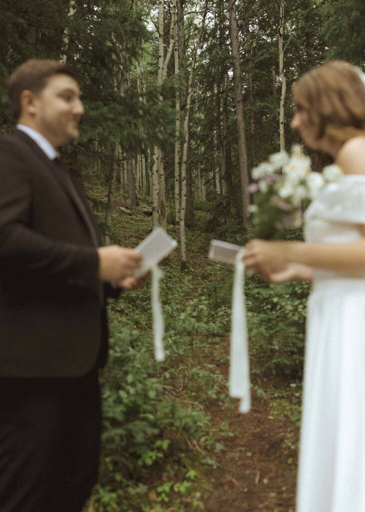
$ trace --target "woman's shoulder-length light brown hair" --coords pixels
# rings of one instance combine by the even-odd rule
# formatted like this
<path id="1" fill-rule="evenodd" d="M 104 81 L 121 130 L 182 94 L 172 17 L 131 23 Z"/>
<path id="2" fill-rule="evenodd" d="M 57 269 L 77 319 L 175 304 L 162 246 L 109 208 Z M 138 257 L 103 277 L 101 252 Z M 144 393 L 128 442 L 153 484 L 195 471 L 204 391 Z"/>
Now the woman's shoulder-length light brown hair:
<path id="1" fill-rule="evenodd" d="M 294 102 L 308 112 L 318 139 L 328 136 L 343 144 L 365 135 L 365 83 L 359 73 L 348 62 L 332 61 L 308 71 L 294 84 Z"/>

